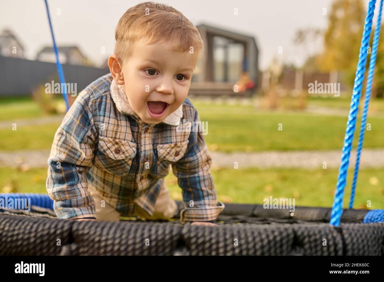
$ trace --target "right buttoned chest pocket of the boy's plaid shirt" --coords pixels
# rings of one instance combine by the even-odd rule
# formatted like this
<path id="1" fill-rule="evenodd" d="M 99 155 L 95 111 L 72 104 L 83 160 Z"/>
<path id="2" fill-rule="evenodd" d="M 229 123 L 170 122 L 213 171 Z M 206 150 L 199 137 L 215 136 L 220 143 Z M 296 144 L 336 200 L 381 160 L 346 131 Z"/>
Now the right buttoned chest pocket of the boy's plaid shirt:
<path id="1" fill-rule="evenodd" d="M 169 165 L 176 163 L 187 151 L 189 140 L 179 143 L 157 144 L 157 177 L 165 177 L 169 173 Z"/>

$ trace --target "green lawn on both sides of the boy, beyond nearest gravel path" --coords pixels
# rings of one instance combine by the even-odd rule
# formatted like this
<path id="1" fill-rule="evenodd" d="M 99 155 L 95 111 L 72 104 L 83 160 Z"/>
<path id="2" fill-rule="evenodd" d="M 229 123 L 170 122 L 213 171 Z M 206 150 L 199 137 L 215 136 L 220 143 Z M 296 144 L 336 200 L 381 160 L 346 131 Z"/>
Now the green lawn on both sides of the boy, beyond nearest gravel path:
<path id="1" fill-rule="evenodd" d="M 8 105 L 12 106 L 13 103 L 9 102 Z M 267 112 L 252 105 L 201 102 L 194 105 L 199 111 L 200 120 L 208 122 L 208 134 L 204 137 L 212 151 L 329 150 L 343 146 L 347 116 Z M 31 105 L 28 107 L 31 112 L 38 114 Z M 371 124 L 371 131 L 365 133 L 364 148 L 384 147 L 383 121 L 384 118 L 368 116 L 367 123 Z M 281 131 L 278 130 L 279 124 L 282 124 Z M 0 128 L 0 150 L 50 149 L 59 125 L 20 125 L 16 131 L 12 130 L 12 126 Z M 354 148 L 358 132 L 359 126 L 355 132 Z"/>

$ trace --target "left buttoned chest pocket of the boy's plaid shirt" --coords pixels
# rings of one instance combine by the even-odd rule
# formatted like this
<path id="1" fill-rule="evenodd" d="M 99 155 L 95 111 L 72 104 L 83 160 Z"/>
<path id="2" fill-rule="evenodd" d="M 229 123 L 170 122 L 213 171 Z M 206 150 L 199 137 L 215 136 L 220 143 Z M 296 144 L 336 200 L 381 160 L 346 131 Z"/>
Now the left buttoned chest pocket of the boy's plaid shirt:
<path id="1" fill-rule="evenodd" d="M 98 151 L 98 161 L 103 168 L 114 175 L 126 176 L 136 156 L 136 143 L 99 136 Z"/>

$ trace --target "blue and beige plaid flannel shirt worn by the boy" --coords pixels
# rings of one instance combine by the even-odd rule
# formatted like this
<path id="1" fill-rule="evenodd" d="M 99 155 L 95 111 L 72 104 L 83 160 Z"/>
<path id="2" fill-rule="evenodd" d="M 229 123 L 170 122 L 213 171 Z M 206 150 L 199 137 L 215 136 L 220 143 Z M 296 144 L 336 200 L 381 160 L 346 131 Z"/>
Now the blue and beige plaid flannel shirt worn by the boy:
<path id="1" fill-rule="evenodd" d="M 201 130 L 180 130 L 181 118 L 200 121 L 188 98 L 154 125 L 136 116 L 111 74 L 87 86 L 56 131 L 48 159 L 46 189 L 58 218 L 96 218 L 89 184 L 121 216 L 134 215 L 135 205 L 152 216 L 171 165 L 186 205 L 180 221 L 215 220 L 224 205 L 212 159 Z"/>

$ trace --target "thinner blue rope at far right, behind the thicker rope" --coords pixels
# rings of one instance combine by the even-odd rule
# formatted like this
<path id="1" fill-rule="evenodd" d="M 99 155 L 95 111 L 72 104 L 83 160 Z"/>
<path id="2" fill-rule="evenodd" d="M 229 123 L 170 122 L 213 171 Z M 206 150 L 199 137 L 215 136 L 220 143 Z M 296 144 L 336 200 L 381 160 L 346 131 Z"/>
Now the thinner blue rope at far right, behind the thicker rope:
<path id="1" fill-rule="evenodd" d="M 363 109 L 362 118 L 361 118 L 360 136 L 359 136 L 359 144 L 358 144 L 357 156 L 356 156 L 355 172 L 353 176 L 351 199 L 349 201 L 350 209 L 352 209 L 353 201 L 355 199 L 356 182 L 358 180 L 358 174 L 359 174 L 360 155 L 361 155 L 362 143 L 364 140 L 365 126 L 367 122 L 369 99 L 371 98 L 372 80 L 373 80 L 373 73 L 374 73 L 375 64 L 376 64 L 377 46 L 379 45 L 382 5 L 383 5 L 383 0 L 380 1 L 379 15 L 377 17 L 376 30 L 373 38 L 373 43 L 372 43 L 372 54 L 371 54 L 371 59 L 369 60 L 369 71 L 368 71 L 366 94 L 365 94 L 365 100 L 364 100 L 364 109 Z"/>

